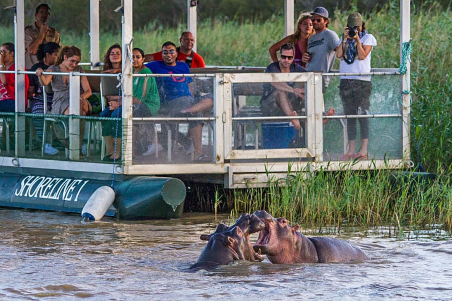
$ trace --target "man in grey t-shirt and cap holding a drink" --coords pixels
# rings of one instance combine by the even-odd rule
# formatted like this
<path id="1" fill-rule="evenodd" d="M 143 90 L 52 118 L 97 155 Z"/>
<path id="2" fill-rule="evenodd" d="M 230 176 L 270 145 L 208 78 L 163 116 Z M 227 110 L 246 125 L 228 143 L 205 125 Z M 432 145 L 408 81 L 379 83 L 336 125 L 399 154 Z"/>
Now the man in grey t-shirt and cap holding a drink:
<path id="1" fill-rule="evenodd" d="M 335 58 L 335 49 L 340 45 L 340 40 L 336 32 L 328 29 L 328 10 L 324 7 L 316 7 L 312 12 L 312 24 L 315 34 L 309 37 L 308 52 L 304 53 L 301 60 L 306 63 L 308 71 L 330 72 Z M 324 78 L 323 92 L 330 79 Z"/>

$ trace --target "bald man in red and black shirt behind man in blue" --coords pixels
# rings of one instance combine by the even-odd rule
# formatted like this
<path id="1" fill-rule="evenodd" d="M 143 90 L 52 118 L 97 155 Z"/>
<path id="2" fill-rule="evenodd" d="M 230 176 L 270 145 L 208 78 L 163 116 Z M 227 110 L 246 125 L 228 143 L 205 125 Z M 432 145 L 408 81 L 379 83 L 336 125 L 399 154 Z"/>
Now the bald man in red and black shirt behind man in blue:
<path id="1" fill-rule="evenodd" d="M 205 68 L 204 60 L 202 56 L 193 51 L 193 45 L 195 43 L 195 36 L 189 31 L 182 32 L 180 39 L 180 47 L 177 47 L 177 58 L 179 62 L 184 62 L 190 68 Z M 162 51 L 146 54 L 145 62 L 151 62 L 153 60 L 163 60 Z"/>

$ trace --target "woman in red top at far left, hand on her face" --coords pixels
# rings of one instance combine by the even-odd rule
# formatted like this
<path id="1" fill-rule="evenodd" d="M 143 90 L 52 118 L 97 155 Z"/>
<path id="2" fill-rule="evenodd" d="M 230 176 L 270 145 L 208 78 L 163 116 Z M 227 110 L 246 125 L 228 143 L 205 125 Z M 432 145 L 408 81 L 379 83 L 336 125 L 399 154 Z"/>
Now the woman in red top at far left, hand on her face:
<path id="1" fill-rule="evenodd" d="M 14 71 L 14 44 L 5 43 L 0 47 L 0 70 Z M 0 73 L 0 112 L 14 112 L 14 74 Z M 27 106 L 28 76 L 25 74 L 25 106 Z"/>

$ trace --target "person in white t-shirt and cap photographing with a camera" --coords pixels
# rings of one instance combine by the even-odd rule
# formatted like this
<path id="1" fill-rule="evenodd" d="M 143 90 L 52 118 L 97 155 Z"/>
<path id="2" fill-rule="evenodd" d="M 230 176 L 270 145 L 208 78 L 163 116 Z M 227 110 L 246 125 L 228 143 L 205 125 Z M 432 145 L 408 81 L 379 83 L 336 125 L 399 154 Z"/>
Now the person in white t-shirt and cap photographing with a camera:
<path id="1" fill-rule="evenodd" d="M 340 73 L 369 73 L 371 70 L 371 52 L 377 46 L 375 37 L 366 30 L 363 17 L 359 13 L 348 15 L 342 42 L 336 49 L 340 58 Z M 345 115 L 367 115 L 370 107 L 372 83 L 370 75 L 346 75 L 340 77 L 339 94 Z M 369 144 L 369 120 L 359 118 L 361 129 L 361 148 L 355 154 L 356 118 L 347 119 L 348 151 L 340 160 L 367 158 Z"/>

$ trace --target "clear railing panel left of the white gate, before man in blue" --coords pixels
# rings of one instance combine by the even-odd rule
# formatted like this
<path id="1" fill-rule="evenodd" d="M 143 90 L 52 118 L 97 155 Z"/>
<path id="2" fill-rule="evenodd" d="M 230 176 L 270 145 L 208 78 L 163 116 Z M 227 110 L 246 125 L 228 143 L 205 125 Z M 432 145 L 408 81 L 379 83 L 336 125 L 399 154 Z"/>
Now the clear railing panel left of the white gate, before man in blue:
<path id="1" fill-rule="evenodd" d="M 170 100 L 160 98 L 158 111 L 134 105 L 133 164 L 215 162 L 213 82 L 214 77 L 194 77 L 193 97 L 166 95 Z"/>

